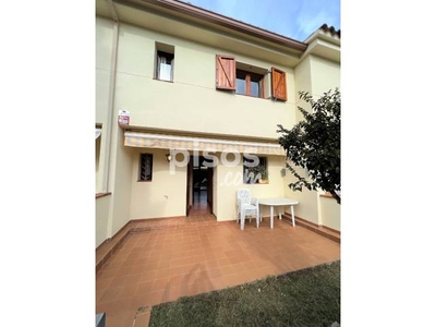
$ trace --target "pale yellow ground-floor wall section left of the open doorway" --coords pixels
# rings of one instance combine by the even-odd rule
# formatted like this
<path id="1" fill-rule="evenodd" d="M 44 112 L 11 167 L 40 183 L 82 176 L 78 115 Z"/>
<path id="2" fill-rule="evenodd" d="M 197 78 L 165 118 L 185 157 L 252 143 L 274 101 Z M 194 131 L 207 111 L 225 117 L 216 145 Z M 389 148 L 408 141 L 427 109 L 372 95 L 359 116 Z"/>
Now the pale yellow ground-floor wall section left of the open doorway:
<path id="1" fill-rule="evenodd" d="M 178 217 L 186 214 L 186 167 L 170 174 L 166 149 L 134 148 L 132 153 L 131 219 Z M 138 182 L 140 154 L 153 154 L 150 182 Z"/>

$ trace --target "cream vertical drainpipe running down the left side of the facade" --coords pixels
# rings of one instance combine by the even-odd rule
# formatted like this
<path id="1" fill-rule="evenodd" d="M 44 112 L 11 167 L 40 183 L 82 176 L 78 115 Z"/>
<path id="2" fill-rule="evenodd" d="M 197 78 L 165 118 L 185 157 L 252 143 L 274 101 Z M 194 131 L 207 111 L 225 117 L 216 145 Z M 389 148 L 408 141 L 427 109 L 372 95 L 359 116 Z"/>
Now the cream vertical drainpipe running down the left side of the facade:
<path id="1" fill-rule="evenodd" d="M 110 71 L 110 81 L 109 81 L 109 101 L 108 101 L 108 117 L 107 117 L 107 135 L 108 142 L 106 143 L 106 179 L 104 189 L 106 192 L 110 192 L 109 190 L 109 180 L 110 180 L 110 158 L 111 158 L 111 148 L 112 148 L 112 124 L 113 124 L 113 107 L 114 107 L 114 94 L 116 94 L 116 77 L 117 77 L 117 58 L 118 58 L 118 35 L 119 35 L 119 21 L 116 9 L 113 7 L 112 0 L 107 0 L 109 10 L 112 14 L 113 20 L 113 39 L 112 39 L 112 57 L 111 57 L 111 71 Z"/>

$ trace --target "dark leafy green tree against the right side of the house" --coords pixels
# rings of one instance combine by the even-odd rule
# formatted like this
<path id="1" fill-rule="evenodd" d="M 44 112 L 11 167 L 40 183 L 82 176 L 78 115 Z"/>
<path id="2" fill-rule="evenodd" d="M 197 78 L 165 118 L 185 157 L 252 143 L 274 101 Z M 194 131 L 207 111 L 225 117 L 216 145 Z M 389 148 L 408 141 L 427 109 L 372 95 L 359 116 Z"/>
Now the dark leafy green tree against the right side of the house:
<path id="1" fill-rule="evenodd" d="M 293 166 L 304 168 L 307 179 L 301 177 L 294 167 L 287 168 L 296 178 L 289 184 L 293 191 L 322 189 L 329 192 L 340 204 L 340 104 L 341 95 L 336 88 L 314 100 L 307 92 L 299 92 L 300 99 L 308 102 L 313 113 L 301 107 L 304 120 L 292 130 L 277 125 L 279 144 L 284 148 L 287 158 Z"/>

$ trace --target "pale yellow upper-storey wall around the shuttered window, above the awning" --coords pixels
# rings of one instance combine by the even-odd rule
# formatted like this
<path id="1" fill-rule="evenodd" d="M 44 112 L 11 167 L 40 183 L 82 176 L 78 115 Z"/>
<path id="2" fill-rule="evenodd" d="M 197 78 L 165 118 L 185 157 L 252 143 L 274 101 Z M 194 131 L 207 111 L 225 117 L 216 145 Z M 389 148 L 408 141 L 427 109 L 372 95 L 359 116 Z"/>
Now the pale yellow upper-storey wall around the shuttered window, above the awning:
<path id="1" fill-rule="evenodd" d="M 153 78 L 155 41 L 174 46 L 174 82 Z M 294 123 L 293 70 L 287 72 L 288 101 L 272 101 L 215 88 L 216 55 L 270 69 L 271 62 L 214 49 L 122 24 L 116 111 L 131 112 L 131 125 L 192 132 L 277 137 L 278 123 Z"/>

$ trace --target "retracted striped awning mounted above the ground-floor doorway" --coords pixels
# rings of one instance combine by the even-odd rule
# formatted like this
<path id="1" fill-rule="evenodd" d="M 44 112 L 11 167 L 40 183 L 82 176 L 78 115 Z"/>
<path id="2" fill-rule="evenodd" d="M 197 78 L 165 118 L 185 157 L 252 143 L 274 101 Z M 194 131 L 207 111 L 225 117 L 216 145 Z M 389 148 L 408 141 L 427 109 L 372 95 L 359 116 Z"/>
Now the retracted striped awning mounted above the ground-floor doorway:
<path id="1" fill-rule="evenodd" d="M 124 132 L 124 145 L 131 147 L 239 152 L 259 155 L 284 156 L 283 148 L 278 143 L 229 141 L 219 138 L 192 137 L 182 135 L 164 135 L 138 132 Z"/>

